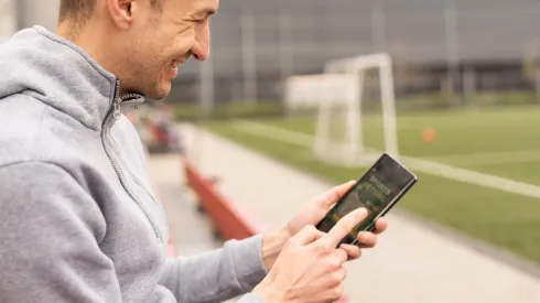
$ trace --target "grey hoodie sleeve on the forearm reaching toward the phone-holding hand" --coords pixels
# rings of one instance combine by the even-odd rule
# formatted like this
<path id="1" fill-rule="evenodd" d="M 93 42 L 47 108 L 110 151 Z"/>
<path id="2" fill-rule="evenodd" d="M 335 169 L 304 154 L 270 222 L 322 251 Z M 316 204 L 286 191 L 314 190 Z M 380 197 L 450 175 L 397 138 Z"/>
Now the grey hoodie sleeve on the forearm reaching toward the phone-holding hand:
<path id="1" fill-rule="evenodd" d="M 261 236 L 227 241 L 224 248 L 170 258 L 160 280 L 182 303 L 223 302 L 250 292 L 267 274 L 261 256 Z M 262 302 L 252 294 L 242 303 Z"/>

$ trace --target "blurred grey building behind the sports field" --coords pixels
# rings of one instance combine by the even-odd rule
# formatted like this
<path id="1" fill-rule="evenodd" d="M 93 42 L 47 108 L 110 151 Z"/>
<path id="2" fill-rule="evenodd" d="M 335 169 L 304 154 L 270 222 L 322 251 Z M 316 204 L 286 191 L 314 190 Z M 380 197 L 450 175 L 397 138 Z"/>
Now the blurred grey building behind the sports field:
<path id="1" fill-rule="evenodd" d="M 171 100 L 204 98 L 204 87 L 216 102 L 279 99 L 290 74 L 377 52 L 392 55 L 399 95 L 440 90 L 449 78 L 458 90 L 530 89 L 540 2 L 227 0 L 212 29 L 209 66 L 184 66 Z"/>

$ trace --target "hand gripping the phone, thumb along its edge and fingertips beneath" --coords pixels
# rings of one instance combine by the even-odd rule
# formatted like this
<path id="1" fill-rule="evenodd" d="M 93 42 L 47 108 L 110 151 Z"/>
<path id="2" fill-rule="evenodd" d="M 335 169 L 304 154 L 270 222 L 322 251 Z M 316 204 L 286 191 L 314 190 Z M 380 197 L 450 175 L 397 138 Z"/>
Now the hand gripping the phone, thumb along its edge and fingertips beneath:
<path id="1" fill-rule="evenodd" d="M 349 181 L 342 185 L 335 186 L 324 195 L 315 198 L 313 202 L 306 205 L 292 220 L 287 225 L 285 234 L 289 236 L 295 235 L 304 226 L 316 225 L 328 213 L 332 206 L 343 196 L 345 193 L 356 184 L 356 181 Z M 380 235 L 387 229 L 387 221 L 380 218 L 375 224 L 375 230 L 372 232 L 363 231 L 358 234 L 358 246 L 343 245 L 345 251 L 347 251 L 348 259 L 357 259 L 360 257 L 360 248 L 372 248 L 377 244 L 376 235 Z"/>

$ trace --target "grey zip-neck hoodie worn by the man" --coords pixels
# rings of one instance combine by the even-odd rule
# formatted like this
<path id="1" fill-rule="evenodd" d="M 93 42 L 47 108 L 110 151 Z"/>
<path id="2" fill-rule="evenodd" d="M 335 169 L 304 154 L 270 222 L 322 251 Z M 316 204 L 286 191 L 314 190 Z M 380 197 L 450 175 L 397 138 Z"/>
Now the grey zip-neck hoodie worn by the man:
<path id="1" fill-rule="evenodd" d="M 0 302 L 260 302 L 261 238 L 166 258 L 120 84 L 35 26 L 0 44 Z M 246 294 L 247 293 L 247 294 Z"/>

